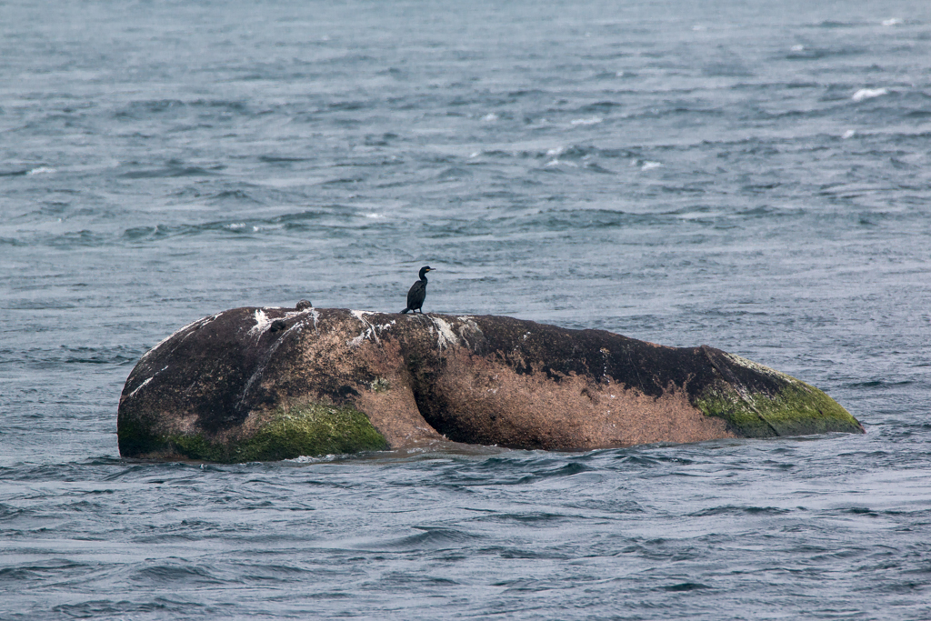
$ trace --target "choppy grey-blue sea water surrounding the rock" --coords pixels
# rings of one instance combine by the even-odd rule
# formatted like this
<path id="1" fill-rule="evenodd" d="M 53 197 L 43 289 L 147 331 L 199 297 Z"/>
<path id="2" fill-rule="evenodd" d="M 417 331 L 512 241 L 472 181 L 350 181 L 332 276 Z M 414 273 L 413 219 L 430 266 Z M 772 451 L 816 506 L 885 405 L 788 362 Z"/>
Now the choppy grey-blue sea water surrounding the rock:
<path id="1" fill-rule="evenodd" d="M 0 3 L 0 618 L 931 618 L 931 6 L 335 4 Z M 426 263 L 868 433 L 119 458 L 183 324 Z"/>

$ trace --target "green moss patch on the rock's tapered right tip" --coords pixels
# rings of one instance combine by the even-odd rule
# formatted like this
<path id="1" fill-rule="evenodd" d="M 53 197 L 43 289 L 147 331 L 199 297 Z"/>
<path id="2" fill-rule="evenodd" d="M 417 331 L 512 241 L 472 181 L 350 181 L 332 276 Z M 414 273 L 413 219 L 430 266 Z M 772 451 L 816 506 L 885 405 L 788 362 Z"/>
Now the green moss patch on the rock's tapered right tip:
<path id="1" fill-rule="evenodd" d="M 863 432 L 837 401 L 794 378 L 774 396 L 741 394 L 733 386 L 719 383 L 695 398 L 695 406 L 708 416 L 724 419 L 744 438 Z"/>

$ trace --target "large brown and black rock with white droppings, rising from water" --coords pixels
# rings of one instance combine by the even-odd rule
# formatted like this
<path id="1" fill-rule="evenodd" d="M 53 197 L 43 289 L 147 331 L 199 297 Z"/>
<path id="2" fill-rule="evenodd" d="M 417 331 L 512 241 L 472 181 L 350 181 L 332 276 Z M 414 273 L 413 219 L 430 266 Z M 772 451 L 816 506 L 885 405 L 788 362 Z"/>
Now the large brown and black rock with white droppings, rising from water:
<path id="1" fill-rule="evenodd" d="M 182 328 L 130 373 L 117 428 L 125 457 L 222 462 L 863 432 L 814 386 L 707 345 L 336 308 L 236 308 Z"/>

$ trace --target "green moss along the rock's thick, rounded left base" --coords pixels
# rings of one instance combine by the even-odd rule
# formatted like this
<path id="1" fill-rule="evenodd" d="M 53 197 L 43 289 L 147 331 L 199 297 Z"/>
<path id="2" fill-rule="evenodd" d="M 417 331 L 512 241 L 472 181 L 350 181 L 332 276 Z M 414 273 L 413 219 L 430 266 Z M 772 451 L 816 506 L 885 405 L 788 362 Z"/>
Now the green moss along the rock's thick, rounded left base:
<path id="1" fill-rule="evenodd" d="M 133 433 L 127 425 L 120 427 L 119 441 L 121 452 L 131 445 L 131 454 L 178 455 L 227 464 L 387 448 L 385 437 L 363 412 L 351 406 L 321 404 L 278 410 L 243 439 L 209 439 L 203 434 L 152 436 Z"/>

